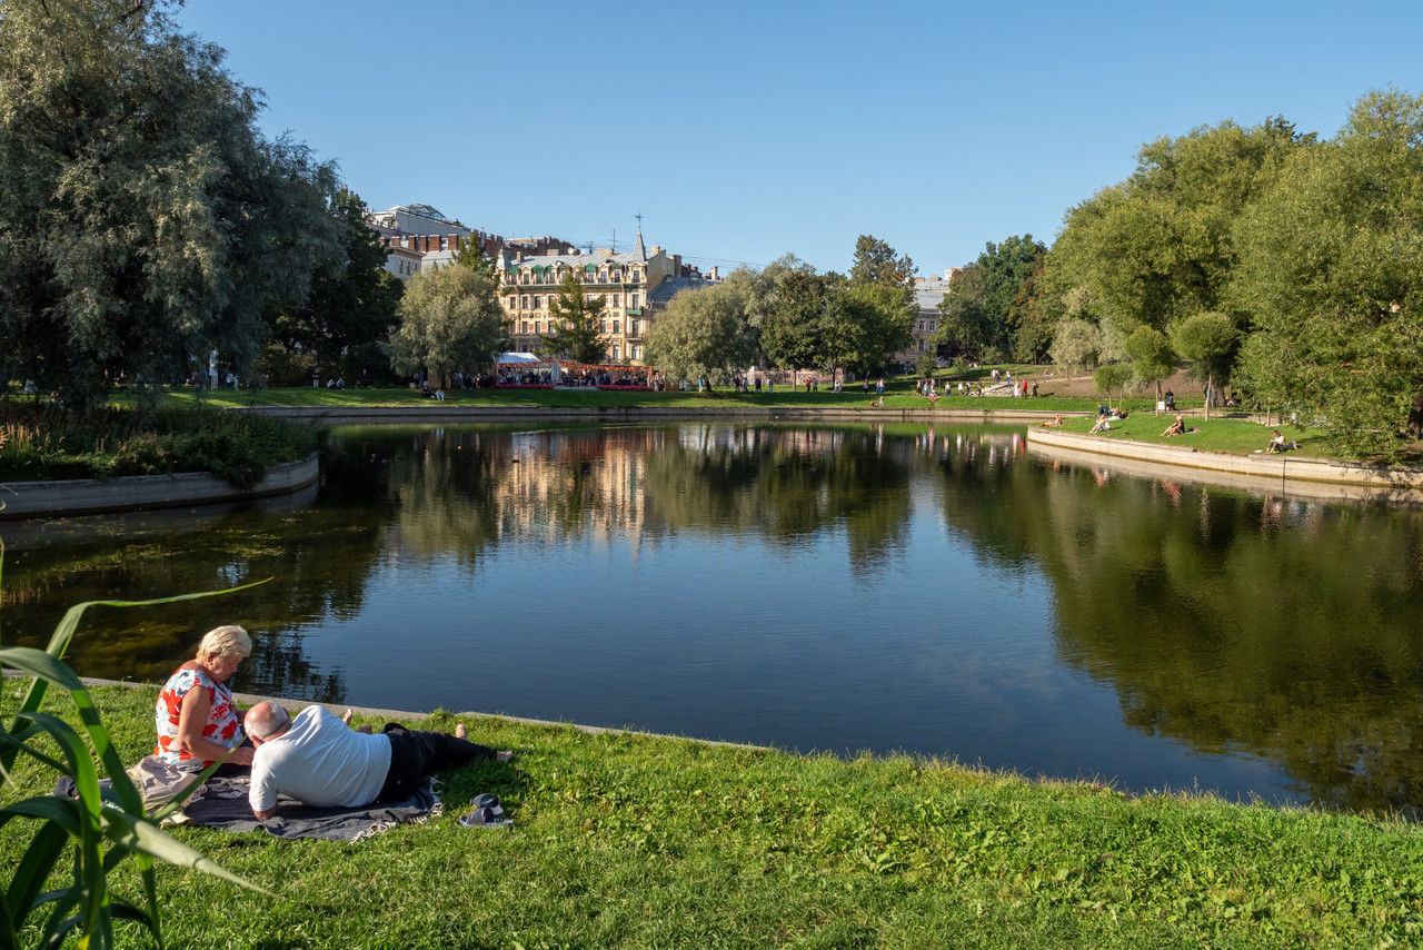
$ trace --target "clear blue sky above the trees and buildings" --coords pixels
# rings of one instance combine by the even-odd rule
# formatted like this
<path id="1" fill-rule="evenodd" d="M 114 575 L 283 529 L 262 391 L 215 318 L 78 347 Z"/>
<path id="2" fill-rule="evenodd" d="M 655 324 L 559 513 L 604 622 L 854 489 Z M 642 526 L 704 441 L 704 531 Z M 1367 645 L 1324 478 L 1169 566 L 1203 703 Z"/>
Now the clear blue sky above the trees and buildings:
<path id="1" fill-rule="evenodd" d="M 1284 115 L 1332 135 L 1423 93 L 1423 3 L 417 3 L 189 0 L 290 131 L 371 208 L 702 265 L 855 236 L 921 273 L 1050 241 L 1141 142 Z"/>

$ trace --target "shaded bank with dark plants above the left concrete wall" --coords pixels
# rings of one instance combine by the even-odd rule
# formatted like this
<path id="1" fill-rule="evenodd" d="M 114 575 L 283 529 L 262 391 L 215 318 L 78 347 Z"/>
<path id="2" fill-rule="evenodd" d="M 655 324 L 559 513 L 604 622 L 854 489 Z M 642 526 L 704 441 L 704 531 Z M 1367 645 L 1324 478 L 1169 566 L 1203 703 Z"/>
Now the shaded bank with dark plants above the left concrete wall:
<path id="1" fill-rule="evenodd" d="M 309 426 L 192 404 L 77 419 L 36 400 L 0 400 L 0 481 L 212 471 L 249 487 L 317 442 Z"/>

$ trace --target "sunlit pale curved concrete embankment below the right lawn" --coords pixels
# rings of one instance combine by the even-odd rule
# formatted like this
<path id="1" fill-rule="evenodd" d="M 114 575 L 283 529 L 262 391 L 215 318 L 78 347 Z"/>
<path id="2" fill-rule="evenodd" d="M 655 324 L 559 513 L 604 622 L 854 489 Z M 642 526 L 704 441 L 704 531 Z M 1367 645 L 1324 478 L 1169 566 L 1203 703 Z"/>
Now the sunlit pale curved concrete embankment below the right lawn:
<path id="1" fill-rule="evenodd" d="M 1072 432 L 1029 429 L 1027 449 L 1056 461 L 1271 494 L 1423 504 L 1423 467 L 1368 466 L 1291 453 L 1237 456 Z"/>

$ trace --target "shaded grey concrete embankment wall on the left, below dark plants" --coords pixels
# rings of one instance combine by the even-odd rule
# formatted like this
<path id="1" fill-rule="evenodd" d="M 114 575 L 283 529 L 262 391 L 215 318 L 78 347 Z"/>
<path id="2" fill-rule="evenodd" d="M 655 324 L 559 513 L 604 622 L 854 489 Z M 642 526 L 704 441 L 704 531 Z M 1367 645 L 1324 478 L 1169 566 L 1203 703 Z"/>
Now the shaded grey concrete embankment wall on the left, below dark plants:
<path id="1" fill-rule="evenodd" d="M 98 479 L 7 481 L 0 483 L 0 503 L 4 504 L 4 510 L 0 510 L 0 518 L 98 514 L 245 501 L 297 491 L 316 483 L 320 476 L 320 459 L 313 451 L 299 461 L 287 461 L 268 469 L 262 480 L 249 489 L 233 487 L 206 471 L 127 476 L 108 481 Z"/>

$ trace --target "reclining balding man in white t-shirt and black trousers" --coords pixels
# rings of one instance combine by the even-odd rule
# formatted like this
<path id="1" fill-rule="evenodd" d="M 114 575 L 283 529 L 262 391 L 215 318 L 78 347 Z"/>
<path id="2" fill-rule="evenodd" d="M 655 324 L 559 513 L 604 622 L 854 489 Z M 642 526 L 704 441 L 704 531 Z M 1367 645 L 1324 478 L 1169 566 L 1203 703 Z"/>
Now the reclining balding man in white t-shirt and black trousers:
<path id="1" fill-rule="evenodd" d="M 275 702 L 248 711 L 252 753 L 252 813 L 268 820 L 276 813 L 277 795 L 319 808 L 403 802 L 431 772 L 460 768 L 472 759 L 508 762 L 514 752 L 495 752 L 454 735 L 413 732 L 396 722 L 374 735 L 370 726 L 350 728 L 350 711 L 337 719 L 322 706 L 307 706 L 290 718 Z"/>

